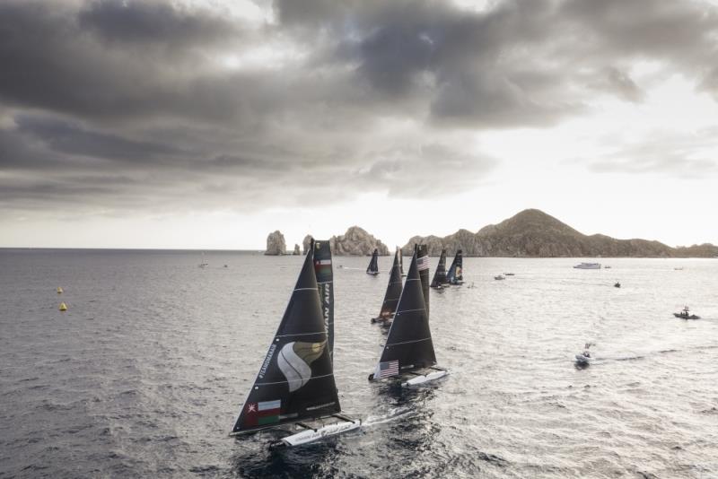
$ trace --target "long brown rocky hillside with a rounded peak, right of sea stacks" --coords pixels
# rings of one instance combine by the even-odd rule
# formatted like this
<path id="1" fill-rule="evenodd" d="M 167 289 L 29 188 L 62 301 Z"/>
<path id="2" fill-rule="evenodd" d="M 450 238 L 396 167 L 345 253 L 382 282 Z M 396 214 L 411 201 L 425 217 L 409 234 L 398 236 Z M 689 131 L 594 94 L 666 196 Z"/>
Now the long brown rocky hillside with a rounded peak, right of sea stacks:
<path id="1" fill-rule="evenodd" d="M 670 248 L 659 241 L 616 240 L 602 234 L 591 236 L 539 210 L 524 210 L 477 233 L 459 230 L 439 238 L 415 236 L 404 246 L 411 254 L 415 243 L 424 243 L 429 254 L 439 256 L 463 249 L 464 256 L 477 257 L 716 257 L 718 247 L 710 244 Z"/>

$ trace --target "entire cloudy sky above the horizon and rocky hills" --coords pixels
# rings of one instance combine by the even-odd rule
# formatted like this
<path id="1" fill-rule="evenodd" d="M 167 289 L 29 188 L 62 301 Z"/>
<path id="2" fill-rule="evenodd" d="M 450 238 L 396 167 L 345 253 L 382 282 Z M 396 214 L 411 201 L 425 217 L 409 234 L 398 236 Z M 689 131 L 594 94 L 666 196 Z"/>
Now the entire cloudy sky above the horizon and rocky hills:
<path id="1" fill-rule="evenodd" d="M 718 244 L 711 0 L 3 0 L 0 247 Z"/>

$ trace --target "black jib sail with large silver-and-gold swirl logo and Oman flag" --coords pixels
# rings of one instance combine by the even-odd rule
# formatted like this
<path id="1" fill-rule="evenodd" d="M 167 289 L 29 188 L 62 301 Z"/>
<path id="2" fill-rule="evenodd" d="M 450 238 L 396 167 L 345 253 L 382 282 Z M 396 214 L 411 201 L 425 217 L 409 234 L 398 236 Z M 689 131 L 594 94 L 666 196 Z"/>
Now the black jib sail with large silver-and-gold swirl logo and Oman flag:
<path id="1" fill-rule="evenodd" d="M 232 434 L 341 411 L 313 263 L 312 244 Z"/>

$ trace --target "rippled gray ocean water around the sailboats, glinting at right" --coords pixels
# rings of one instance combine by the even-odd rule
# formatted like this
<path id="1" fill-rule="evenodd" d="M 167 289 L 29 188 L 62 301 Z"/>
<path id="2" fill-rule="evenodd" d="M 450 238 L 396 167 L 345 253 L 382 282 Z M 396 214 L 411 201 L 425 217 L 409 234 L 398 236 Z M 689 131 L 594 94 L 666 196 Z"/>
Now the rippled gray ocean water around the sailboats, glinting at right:
<path id="1" fill-rule="evenodd" d="M 204 258 L 0 250 L 0 477 L 718 477 L 718 260 L 465 258 L 431 292 L 451 375 L 405 391 L 366 379 L 390 257 L 335 257 L 337 387 L 365 426 L 269 449 L 227 434 L 303 257 Z"/>

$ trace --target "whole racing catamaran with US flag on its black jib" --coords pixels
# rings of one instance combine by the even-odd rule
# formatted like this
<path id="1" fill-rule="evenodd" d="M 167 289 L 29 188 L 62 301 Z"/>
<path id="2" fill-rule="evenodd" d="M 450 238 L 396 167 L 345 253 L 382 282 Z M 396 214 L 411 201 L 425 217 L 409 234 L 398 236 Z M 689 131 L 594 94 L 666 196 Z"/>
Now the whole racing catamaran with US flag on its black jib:
<path id="1" fill-rule="evenodd" d="M 426 265 L 426 266 L 424 266 Z M 421 274 L 428 283 L 428 255 L 426 246 L 415 247 L 407 274 L 407 281 L 398 300 L 397 312 L 391 323 L 387 342 L 381 352 L 379 363 L 369 380 L 402 376 L 401 386 L 412 387 L 440 379 L 448 370 L 437 368 L 433 352 L 432 334 L 429 329 L 428 302 L 425 301 Z M 428 284 L 426 296 L 428 296 Z"/>

